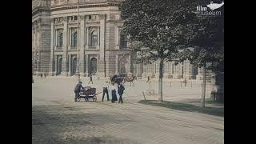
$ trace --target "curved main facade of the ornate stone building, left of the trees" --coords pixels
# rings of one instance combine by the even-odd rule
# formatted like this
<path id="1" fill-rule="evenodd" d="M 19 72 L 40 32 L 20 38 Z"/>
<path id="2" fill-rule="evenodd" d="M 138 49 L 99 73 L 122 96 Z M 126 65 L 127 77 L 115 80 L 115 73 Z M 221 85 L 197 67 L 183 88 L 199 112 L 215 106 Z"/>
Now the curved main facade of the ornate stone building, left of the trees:
<path id="1" fill-rule="evenodd" d="M 77 62 L 81 76 L 130 73 L 118 2 L 80 0 L 78 10 L 77 0 L 51 1 L 51 75 L 72 76 Z"/>

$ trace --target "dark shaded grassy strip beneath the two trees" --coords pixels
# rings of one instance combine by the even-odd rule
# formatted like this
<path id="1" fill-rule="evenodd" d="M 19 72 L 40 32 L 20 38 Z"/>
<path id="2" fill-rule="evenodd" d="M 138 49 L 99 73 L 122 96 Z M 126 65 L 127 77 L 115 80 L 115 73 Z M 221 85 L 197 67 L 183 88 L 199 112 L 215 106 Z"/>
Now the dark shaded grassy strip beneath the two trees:
<path id="1" fill-rule="evenodd" d="M 197 106 L 195 104 L 191 103 L 199 103 L 198 101 L 193 102 L 159 102 L 156 100 L 141 100 L 139 103 L 151 105 L 151 106 L 162 106 L 173 110 L 182 110 L 182 111 L 190 111 L 190 112 L 198 112 L 202 114 L 210 114 L 210 115 L 216 115 L 220 117 L 224 117 L 224 107 L 220 107 L 220 104 L 216 103 L 217 107 L 214 106 L 206 106 L 202 108 L 201 106 Z M 214 102 L 206 102 L 211 103 L 211 105 L 214 104 Z"/>

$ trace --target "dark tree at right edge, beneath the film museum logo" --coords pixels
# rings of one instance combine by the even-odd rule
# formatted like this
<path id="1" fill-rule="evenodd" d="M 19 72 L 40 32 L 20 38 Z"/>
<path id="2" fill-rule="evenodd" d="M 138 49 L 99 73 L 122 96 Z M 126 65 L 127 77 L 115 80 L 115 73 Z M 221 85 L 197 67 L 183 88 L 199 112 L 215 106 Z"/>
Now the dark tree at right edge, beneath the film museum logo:
<path id="1" fill-rule="evenodd" d="M 206 70 L 212 70 L 216 74 L 218 85 L 218 101 L 223 101 L 224 90 L 224 13 L 218 16 L 202 15 L 194 13 L 196 6 L 206 6 L 208 3 L 197 0 L 191 2 L 190 11 L 192 17 L 187 21 L 186 48 L 182 51 L 183 57 L 191 63 L 203 67 L 202 107 L 205 106 L 206 94 Z M 191 16 L 191 15 L 190 15 Z M 189 48 L 188 48 L 189 47 Z M 193 49 L 191 49 L 193 47 Z M 210 65 L 207 65 L 210 63 Z"/>

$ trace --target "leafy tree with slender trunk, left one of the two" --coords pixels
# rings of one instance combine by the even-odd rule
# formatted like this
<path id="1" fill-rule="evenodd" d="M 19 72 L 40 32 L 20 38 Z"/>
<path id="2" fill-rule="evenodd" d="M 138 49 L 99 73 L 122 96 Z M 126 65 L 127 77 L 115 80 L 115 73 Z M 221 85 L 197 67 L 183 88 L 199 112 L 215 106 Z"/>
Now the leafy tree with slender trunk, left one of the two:
<path id="1" fill-rule="evenodd" d="M 138 62 L 159 61 L 159 100 L 162 102 L 163 62 L 176 60 L 185 46 L 186 19 L 190 18 L 186 0 L 126 0 L 119 6 L 123 30 L 130 35 L 131 48 L 142 55 Z"/>

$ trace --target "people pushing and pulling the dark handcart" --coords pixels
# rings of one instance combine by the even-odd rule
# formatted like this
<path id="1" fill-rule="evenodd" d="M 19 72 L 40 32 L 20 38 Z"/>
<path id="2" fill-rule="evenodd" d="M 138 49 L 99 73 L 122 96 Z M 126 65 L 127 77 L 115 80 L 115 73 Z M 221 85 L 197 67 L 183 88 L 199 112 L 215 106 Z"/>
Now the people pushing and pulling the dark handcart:
<path id="1" fill-rule="evenodd" d="M 90 75 L 90 82 L 92 82 L 91 75 Z M 82 82 L 78 82 L 78 84 L 74 88 L 74 94 L 75 94 L 74 102 L 77 102 L 79 93 L 82 89 L 84 90 L 85 87 L 82 86 Z M 109 94 L 111 94 L 111 102 L 114 103 L 114 102 L 118 101 L 118 103 L 120 103 L 120 102 L 123 103 L 122 94 L 124 93 L 124 90 L 125 90 L 125 87 L 122 85 L 122 82 L 106 81 L 103 84 L 102 102 L 104 101 L 105 95 L 106 95 L 107 101 L 110 101 Z M 119 98 L 118 98 L 118 96 L 119 96 Z"/>

